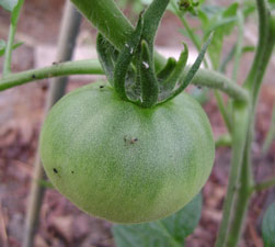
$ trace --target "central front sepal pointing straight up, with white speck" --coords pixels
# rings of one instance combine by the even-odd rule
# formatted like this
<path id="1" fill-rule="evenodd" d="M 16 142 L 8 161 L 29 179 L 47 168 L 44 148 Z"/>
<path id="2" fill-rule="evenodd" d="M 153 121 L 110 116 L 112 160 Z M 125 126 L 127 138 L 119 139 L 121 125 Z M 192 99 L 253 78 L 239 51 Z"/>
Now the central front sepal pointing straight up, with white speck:
<path id="1" fill-rule="evenodd" d="M 140 66 L 140 86 L 141 101 L 144 108 L 151 108 L 158 101 L 159 82 L 156 77 L 154 67 L 151 60 L 151 53 L 146 41 L 141 41 L 141 63 Z"/>

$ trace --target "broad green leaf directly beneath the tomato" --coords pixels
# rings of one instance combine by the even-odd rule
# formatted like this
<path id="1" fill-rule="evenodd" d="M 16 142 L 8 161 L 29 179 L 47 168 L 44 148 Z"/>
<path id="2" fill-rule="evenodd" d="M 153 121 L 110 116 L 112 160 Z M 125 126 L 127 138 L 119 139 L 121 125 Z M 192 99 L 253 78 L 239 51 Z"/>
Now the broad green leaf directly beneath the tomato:
<path id="1" fill-rule="evenodd" d="M 198 224 L 202 212 L 199 193 L 175 214 L 151 223 L 114 225 L 113 235 L 117 247 L 168 247 L 184 246 L 185 238 Z"/>

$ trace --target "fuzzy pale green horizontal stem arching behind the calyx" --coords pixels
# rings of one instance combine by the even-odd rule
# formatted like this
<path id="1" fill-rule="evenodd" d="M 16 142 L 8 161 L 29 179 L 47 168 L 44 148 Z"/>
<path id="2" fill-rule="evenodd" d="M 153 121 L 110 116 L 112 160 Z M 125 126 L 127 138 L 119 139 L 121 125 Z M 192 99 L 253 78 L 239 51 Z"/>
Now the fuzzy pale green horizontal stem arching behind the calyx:
<path id="1" fill-rule="evenodd" d="M 188 69 L 190 66 L 186 66 L 184 75 L 187 74 Z M 9 75 L 7 78 L 0 80 L 0 91 L 39 79 L 71 75 L 103 75 L 103 70 L 98 59 L 60 63 L 41 69 Z M 244 89 L 233 83 L 224 75 L 209 69 L 199 69 L 192 80 L 192 83 L 219 89 L 236 100 L 244 102 L 249 100 Z"/>

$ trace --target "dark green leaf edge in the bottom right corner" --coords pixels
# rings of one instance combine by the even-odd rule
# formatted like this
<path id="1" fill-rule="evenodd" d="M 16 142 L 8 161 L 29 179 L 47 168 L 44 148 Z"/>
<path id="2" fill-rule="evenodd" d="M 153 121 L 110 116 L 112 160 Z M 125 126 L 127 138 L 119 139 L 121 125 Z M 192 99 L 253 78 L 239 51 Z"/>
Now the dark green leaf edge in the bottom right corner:
<path id="1" fill-rule="evenodd" d="M 275 202 L 266 210 L 262 223 L 264 247 L 275 246 Z"/>

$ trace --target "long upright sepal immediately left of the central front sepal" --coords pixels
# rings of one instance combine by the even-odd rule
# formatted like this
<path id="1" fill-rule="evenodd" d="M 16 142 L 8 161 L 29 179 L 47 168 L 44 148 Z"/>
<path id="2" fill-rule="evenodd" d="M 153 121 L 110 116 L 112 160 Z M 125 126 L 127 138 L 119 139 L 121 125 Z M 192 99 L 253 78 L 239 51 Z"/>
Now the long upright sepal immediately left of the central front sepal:
<path id="1" fill-rule="evenodd" d="M 133 70 L 129 69 L 129 66 L 137 52 L 141 38 L 142 27 L 144 27 L 144 18 L 141 13 L 136 30 L 130 35 L 129 40 L 126 42 L 124 48 L 118 55 L 115 65 L 114 88 L 123 100 L 128 100 L 126 93 L 126 80 L 128 80 L 127 87 L 130 87 L 131 83 L 133 85 L 135 83 L 135 76 Z"/>

